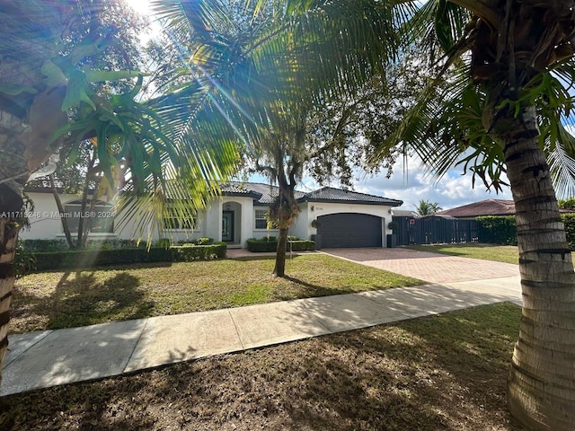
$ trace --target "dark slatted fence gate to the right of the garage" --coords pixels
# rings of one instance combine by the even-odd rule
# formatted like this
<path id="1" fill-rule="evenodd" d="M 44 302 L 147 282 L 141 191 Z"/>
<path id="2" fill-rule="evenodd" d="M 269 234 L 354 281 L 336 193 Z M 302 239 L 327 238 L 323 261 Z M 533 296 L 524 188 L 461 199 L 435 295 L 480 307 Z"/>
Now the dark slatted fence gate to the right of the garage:
<path id="1" fill-rule="evenodd" d="M 479 242 L 479 224 L 441 216 L 419 218 L 394 216 L 397 245 Z"/>

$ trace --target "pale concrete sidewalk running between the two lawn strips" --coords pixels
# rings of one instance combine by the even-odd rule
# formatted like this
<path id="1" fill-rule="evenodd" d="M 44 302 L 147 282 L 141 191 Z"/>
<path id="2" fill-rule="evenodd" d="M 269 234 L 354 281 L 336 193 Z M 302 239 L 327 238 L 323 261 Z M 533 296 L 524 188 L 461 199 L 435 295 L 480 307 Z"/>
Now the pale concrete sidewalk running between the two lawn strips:
<path id="1" fill-rule="evenodd" d="M 403 252 L 398 250 L 395 256 Z M 429 265 L 426 258 L 418 259 L 410 253 L 402 259 L 417 260 L 420 270 Z M 347 256 L 340 257 L 351 259 L 352 254 L 353 251 L 349 251 Z M 438 258 L 438 255 L 427 258 Z M 375 259 L 381 260 L 385 259 Z M 373 261 L 366 259 L 361 263 L 367 262 Z M 484 265 L 473 259 L 464 259 L 462 264 Z M 515 275 L 506 272 L 512 268 Z M 435 270 L 442 272 L 440 268 Z M 447 280 L 441 284 L 433 282 L 425 286 L 13 335 L 4 358 L 0 395 L 100 379 L 476 305 L 503 301 L 519 304 L 517 266 L 512 265 L 506 271 L 501 269 L 498 277 Z M 420 277 L 419 273 L 408 275 Z"/>

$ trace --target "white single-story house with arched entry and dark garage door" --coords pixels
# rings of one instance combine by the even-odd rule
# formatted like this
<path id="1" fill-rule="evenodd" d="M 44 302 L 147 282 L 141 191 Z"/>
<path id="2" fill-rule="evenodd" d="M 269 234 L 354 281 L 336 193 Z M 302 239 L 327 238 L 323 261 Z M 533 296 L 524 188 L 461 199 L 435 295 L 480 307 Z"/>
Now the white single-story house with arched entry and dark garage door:
<path id="1" fill-rule="evenodd" d="M 29 189 L 28 196 L 35 204 L 29 214 L 30 230 L 22 230 L 23 239 L 64 238 L 60 214 L 51 189 Z M 278 188 L 261 183 L 230 183 L 222 188 L 222 196 L 214 199 L 198 216 L 193 229 L 179 224 L 165 224 L 164 236 L 174 240 L 210 237 L 224 241 L 229 247 L 246 247 L 249 238 L 278 235 L 268 230 L 266 213 Z M 80 201 L 75 195 L 60 195 L 68 224 L 76 230 L 80 214 Z M 403 204 L 401 200 L 324 187 L 309 193 L 296 191 L 301 209 L 290 235 L 311 238 L 320 235 L 323 248 L 329 247 L 382 247 L 385 246 L 386 225 L 392 220 L 392 208 Z M 128 224 L 122 231 L 114 229 L 111 204 L 95 203 L 91 238 L 132 239 L 134 233 Z M 312 222 L 314 224 L 312 225 Z M 133 224 L 132 224 L 133 226 Z M 157 233 L 154 239 L 158 239 Z"/>

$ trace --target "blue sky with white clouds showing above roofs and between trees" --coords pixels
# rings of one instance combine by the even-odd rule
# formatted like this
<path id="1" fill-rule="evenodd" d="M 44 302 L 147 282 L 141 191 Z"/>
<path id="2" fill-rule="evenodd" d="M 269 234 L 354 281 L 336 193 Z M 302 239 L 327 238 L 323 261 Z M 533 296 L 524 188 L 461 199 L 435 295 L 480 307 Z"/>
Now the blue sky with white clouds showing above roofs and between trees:
<path id="1" fill-rule="evenodd" d="M 125 1 L 138 13 L 149 13 L 147 0 Z M 153 33 L 159 31 L 157 23 L 153 23 L 152 29 Z M 147 39 L 149 37 L 143 38 L 144 41 Z M 403 209 L 413 210 L 420 200 L 428 200 L 432 203 L 438 203 L 439 207 L 443 209 L 450 209 L 483 199 L 511 199 L 511 192 L 507 187 L 503 189 L 503 192 L 496 194 L 495 191 L 486 190 L 482 181 L 478 180 L 475 188 L 472 188 L 471 174 L 462 175 L 463 172 L 458 170 L 448 172 L 439 181 L 433 181 L 424 174 L 420 169 L 419 162 L 415 160 L 408 161 L 407 170 L 403 169 L 403 160 L 398 161 L 390 179 L 387 179 L 385 174 L 372 177 L 362 172 L 356 173 L 355 191 L 403 200 Z M 260 175 L 254 175 L 250 180 L 254 182 L 267 181 Z M 297 189 L 311 191 L 323 186 L 338 187 L 339 184 L 337 182 L 317 184 L 313 179 L 305 177 Z"/>

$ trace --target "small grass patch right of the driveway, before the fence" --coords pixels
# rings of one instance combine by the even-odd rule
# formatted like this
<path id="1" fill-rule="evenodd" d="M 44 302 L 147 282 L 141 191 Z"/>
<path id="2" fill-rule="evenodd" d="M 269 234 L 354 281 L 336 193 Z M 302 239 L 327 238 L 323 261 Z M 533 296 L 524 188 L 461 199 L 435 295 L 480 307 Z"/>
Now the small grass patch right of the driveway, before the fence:
<path id="1" fill-rule="evenodd" d="M 449 254 L 464 258 L 494 260 L 496 262 L 519 263 L 519 253 L 515 245 L 492 244 L 447 244 L 447 245 L 411 245 L 412 250 Z"/>

